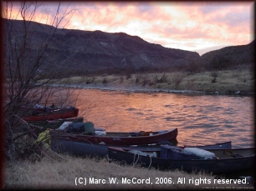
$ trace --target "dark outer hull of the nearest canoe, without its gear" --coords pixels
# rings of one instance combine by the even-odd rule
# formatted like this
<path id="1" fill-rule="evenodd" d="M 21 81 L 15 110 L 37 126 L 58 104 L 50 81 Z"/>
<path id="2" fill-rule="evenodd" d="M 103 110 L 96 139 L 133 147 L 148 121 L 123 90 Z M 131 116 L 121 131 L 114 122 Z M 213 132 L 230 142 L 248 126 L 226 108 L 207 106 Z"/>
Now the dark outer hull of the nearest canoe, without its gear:
<path id="1" fill-rule="evenodd" d="M 239 149 L 239 148 L 238 148 Z M 233 151 L 238 151 L 238 149 L 228 149 Z M 253 162 L 255 156 L 253 153 L 253 148 L 241 148 L 248 149 L 250 156 L 238 157 L 238 158 L 219 158 L 219 159 L 170 159 L 170 158 L 155 158 L 147 157 L 142 155 L 136 155 L 134 153 L 124 152 L 121 148 L 111 148 L 109 147 L 108 156 L 114 161 L 119 161 L 128 164 L 141 163 L 143 166 L 155 167 L 164 170 L 174 170 L 179 169 L 186 171 L 187 173 L 204 171 L 205 173 L 233 173 L 241 170 L 253 168 Z M 253 150 L 252 150 L 253 149 Z M 227 149 L 209 149 L 211 152 L 225 152 Z M 216 155 L 218 156 L 218 155 Z"/>

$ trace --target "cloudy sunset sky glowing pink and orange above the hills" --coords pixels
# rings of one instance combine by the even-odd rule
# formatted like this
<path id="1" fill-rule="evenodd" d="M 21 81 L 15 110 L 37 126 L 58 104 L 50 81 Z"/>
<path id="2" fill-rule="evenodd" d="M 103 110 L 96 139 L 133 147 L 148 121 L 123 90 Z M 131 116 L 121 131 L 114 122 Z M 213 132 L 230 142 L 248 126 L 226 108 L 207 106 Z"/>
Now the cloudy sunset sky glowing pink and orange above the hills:
<path id="1" fill-rule="evenodd" d="M 63 2 L 60 15 L 68 6 L 68 11 L 75 11 L 69 23 L 66 19 L 71 14 L 63 21 L 66 25 L 61 27 L 123 32 L 149 43 L 195 51 L 200 55 L 227 46 L 248 44 L 254 39 L 253 1 Z M 46 11 L 49 18 L 56 13 L 56 3 L 44 2 L 43 7 L 35 18 L 41 23 L 45 23 Z"/>

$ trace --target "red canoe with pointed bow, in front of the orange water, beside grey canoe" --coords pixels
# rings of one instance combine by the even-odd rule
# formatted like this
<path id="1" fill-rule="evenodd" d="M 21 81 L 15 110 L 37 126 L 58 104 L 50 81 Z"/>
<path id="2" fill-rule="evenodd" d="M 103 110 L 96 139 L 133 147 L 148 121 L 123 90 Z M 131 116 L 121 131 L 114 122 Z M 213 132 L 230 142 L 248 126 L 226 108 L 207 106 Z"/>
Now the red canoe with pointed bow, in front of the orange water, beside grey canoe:
<path id="1" fill-rule="evenodd" d="M 88 122 L 89 123 L 89 122 Z M 81 124 L 82 125 L 82 124 Z M 85 125 L 85 124 L 84 124 Z M 84 128 L 82 126 L 82 128 Z M 92 127 L 93 128 L 93 127 Z M 95 132 L 93 130 L 93 132 Z M 81 142 L 81 143 L 92 143 L 92 144 L 108 144 L 115 146 L 125 145 L 138 145 L 138 144 L 151 144 L 159 143 L 161 141 L 176 140 L 177 128 L 164 130 L 164 131 L 151 131 L 149 132 L 105 132 L 103 131 L 101 136 L 95 135 L 95 133 L 67 133 L 59 129 L 50 129 L 49 133 L 51 137 L 61 138 L 64 140 Z"/>

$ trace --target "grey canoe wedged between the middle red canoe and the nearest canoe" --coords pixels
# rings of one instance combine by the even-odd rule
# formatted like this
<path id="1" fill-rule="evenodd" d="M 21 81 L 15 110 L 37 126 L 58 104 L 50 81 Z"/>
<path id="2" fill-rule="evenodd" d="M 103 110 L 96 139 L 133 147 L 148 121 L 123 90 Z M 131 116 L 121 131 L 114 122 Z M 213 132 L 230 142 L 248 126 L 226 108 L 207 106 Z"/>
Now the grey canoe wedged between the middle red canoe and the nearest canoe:
<path id="1" fill-rule="evenodd" d="M 164 142 L 164 144 L 167 144 Z M 169 142 L 169 144 L 171 144 Z M 119 146 L 121 148 L 130 148 L 137 150 L 159 150 L 159 144 L 150 144 L 150 145 L 132 145 L 132 146 Z M 69 141 L 62 138 L 51 137 L 51 149 L 57 153 L 69 153 L 76 156 L 86 156 L 86 155 L 96 155 L 100 157 L 105 157 L 108 154 L 108 148 L 110 145 L 107 144 L 92 144 L 92 143 L 80 143 L 75 141 Z M 118 146 L 115 146 L 118 147 Z M 232 148 L 231 142 L 225 143 L 214 143 L 212 145 L 204 146 L 190 146 L 197 148 Z"/>

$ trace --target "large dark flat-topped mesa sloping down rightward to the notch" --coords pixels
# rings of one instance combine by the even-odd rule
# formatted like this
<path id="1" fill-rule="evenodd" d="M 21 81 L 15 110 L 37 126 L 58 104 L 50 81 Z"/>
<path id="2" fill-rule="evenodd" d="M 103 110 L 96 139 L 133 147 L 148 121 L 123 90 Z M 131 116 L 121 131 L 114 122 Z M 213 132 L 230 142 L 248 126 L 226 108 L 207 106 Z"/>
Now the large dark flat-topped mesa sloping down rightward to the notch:
<path id="1" fill-rule="evenodd" d="M 19 38 L 22 38 L 23 21 L 8 22 L 13 23 L 13 31 L 18 32 Z M 53 31 L 54 28 L 48 25 L 29 22 L 27 33 L 33 35 L 28 48 L 37 53 L 37 48 L 47 41 L 45 39 Z M 172 68 L 200 58 L 196 52 L 164 48 L 126 33 L 70 29 L 57 29 L 46 53 L 51 55 L 45 58 L 45 63 L 49 66 L 58 67 L 58 63 L 72 61 L 73 66 L 82 71 L 110 68 Z"/>

